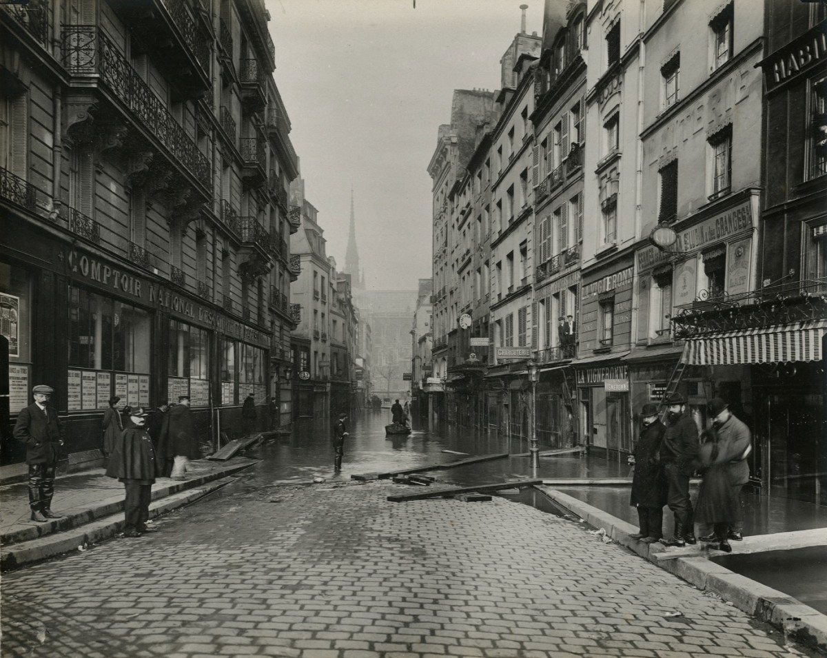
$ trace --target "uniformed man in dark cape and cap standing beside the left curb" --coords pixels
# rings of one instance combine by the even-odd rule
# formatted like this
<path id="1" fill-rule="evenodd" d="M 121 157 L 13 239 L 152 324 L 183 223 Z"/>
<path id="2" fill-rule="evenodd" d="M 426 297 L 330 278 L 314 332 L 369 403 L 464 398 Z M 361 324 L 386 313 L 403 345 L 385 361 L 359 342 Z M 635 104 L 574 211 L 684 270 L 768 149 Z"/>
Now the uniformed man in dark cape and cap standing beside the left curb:
<path id="1" fill-rule="evenodd" d="M 123 536 L 139 537 L 155 532 L 146 527 L 150 517 L 152 484 L 155 483 L 155 447 L 144 423 L 149 413 L 142 407 L 131 409 L 127 427 L 118 437 L 109 458 L 106 474 L 123 483 Z"/>

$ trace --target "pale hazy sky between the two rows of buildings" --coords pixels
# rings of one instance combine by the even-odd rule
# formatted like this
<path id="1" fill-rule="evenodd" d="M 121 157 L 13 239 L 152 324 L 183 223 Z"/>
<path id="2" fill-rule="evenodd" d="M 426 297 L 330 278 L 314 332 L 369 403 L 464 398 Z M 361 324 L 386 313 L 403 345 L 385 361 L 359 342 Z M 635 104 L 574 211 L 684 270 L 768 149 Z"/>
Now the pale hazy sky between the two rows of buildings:
<path id="1" fill-rule="evenodd" d="M 530 33 L 543 0 L 528 4 Z M 500 88 L 521 0 L 265 0 L 275 82 L 327 255 L 344 269 L 353 188 L 368 288 L 431 276 L 437 129 L 455 88 Z"/>

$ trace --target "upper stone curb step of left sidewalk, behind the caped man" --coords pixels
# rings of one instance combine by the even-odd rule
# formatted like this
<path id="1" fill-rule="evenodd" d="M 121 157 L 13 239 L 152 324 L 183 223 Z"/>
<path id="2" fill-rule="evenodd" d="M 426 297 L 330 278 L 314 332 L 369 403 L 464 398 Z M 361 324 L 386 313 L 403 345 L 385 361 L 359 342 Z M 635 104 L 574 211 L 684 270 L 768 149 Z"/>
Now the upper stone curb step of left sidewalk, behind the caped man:
<path id="1" fill-rule="evenodd" d="M 227 475 L 237 473 L 239 470 L 249 468 L 254 463 L 255 461 L 250 461 L 246 464 L 227 465 L 227 468 L 222 470 L 213 470 L 193 479 L 185 480 L 184 482 L 165 484 L 163 487 L 152 489 L 152 500 L 159 500 L 160 498 L 165 498 L 174 493 L 179 493 L 181 491 L 185 491 L 186 489 L 192 489 L 193 487 L 198 487 L 201 484 L 212 482 L 215 479 L 226 477 Z M 2 545 L 2 551 L 5 552 L 8 546 L 13 546 L 23 541 L 32 541 L 38 537 L 49 536 L 55 532 L 65 532 L 67 530 L 83 526 L 87 523 L 91 523 L 95 521 L 95 519 L 107 517 L 110 514 L 115 514 L 118 512 L 123 512 L 122 494 L 118 494 L 117 496 L 108 496 L 107 498 L 99 501 L 98 504 L 93 503 L 93 507 L 79 512 L 69 513 L 68 516 L 55 519 L 54 521 L 38 523 L 36 526 L 28 526 L 19 530 L 7 532 L 6 534 L 0 536 L 0 545 Z"/>

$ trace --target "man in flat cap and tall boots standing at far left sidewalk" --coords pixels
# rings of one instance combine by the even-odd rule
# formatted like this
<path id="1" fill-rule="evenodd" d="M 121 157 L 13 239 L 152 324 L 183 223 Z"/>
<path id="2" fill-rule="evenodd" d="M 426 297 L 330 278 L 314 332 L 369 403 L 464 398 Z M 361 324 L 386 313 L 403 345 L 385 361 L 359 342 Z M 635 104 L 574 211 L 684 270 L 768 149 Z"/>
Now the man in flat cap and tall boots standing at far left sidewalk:
<path id="1" fill-rule="evenodd" d="M 40 523 L 50 518 L 61 518 L 51 511 L 51 499 L 55 494 L 55 470 L 65 436 L 63 423 L 55 408 L 46 406 L 54 392 L 55 389 L 45 384 L 38 384 L 31 389 L 35 402 L 17 414 L 13 432 L 17 441 L 26 444 L 31 520 Z"/>

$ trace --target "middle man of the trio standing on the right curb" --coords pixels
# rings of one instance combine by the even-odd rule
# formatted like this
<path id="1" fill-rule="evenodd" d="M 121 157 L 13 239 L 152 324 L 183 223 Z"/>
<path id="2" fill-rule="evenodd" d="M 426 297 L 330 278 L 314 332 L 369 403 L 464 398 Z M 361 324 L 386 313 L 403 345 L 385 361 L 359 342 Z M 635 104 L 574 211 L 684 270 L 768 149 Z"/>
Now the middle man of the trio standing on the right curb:
<path id="1" fill-rule="evenodd" d="M 660 456 L 667 481 L 667 505 L 675 515 L 675 534 L 672 539 L 661 540 L 665 546 L 697 543 L 689 478 L 695 472 L 699 450 L 698 426 L 686 412 L 686 398 L 672 396 L 667 401 L 667 429 Z"/>

